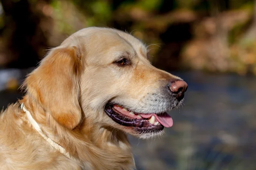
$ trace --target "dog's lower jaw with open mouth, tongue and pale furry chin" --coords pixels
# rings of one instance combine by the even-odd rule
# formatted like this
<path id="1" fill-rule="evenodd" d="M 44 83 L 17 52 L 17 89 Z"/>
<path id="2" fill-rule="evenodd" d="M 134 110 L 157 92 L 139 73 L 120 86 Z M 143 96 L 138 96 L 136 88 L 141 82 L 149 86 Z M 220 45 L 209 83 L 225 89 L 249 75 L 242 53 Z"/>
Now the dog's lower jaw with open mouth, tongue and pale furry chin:
<path id="1" fill-rule="evenodd" d="M 164 133 L 164 127 L 173 125 L 171 116 L 166 112 L 136 113 L 120 104 L 113 104 L 113 102 L 108 102 L 105 105 L 105 113 L 119 124 L 117 125 L 119 129 L 142 139 L 161 136 Z"/>

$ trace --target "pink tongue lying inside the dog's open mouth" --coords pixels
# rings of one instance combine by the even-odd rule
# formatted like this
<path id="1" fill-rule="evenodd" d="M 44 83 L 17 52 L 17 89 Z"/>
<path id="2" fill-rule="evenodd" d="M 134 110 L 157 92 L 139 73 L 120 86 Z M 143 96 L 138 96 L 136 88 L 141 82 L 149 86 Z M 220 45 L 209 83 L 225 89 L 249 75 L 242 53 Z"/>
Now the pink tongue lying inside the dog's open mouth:
<path id="1" fill-rule="evenodd" d="M 116 111 L 119 111 L 120 113 L 132 117 L 132 118 L 136 118 L 136 119 L 141 119 L 140 117 L 138 117 L 137 115 L 132 115 L 130 114 L 128 111 L 124 111 L 122 109 L 122 107 L 115 105 L 113 107 Z M 157 121 L 162 124 L 164 127 L 172 127 L 173 122 L 172 122 L 172 117 L 169 116 L 169 114 L 167 113 L 162 113 L 160 115 L 157 114 L 140 114 L 141 117 L 143 118 L 150 118 L 151 116 L 155 116 L 155 118 L 157 119 Z"/>

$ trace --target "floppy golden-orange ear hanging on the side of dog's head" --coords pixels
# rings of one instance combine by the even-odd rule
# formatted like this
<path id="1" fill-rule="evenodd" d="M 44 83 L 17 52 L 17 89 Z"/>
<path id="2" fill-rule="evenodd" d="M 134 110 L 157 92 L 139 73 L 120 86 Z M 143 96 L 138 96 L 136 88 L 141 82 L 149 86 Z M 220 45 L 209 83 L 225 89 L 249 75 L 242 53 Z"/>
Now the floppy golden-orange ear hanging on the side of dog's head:
<path id="1" fill-rule="evenodd" d="M 82 54 L 76 47 L 55 48 L 26 79 L 44 110 L 59 124 L 73 129 L 81 121 L 79 77 Z"/>

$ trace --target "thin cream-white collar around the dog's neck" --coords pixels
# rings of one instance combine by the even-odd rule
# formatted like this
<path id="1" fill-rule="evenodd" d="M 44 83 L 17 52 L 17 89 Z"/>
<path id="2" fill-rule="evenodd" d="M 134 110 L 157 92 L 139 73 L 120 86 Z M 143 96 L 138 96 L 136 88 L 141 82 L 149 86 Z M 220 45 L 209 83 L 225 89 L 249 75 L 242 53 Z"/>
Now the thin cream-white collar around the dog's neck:
<path id="1" fill-rule="evenodd" d="M 26 116 L 29 120 L 29 122 L 32 124 L 32 126 L 35 128 L 36 131 L 38 131 L 38 133 L 52 146 L 54 147 L 56 150 L 58 150 L 60 153 L 62 153 L 63 155 L 67 156 L 67 158 L 76 161 L 77 160 L 75 158 L 73 158 L 72 156 L 70 156 L 70 154 L 64 149 L 64 147 L 62 147 L 61 145 L 57 144 L 56 142 L 54 142 L 52 139 L 50 139 L 49 137 L 47 137 L 41 130 L 40 126 L 38 125 L 38 123 L 35 121 L 35 119 L 33 119 L 31 113 L 29 111 L 26 110 L 25 106 L 23 103 L 21 103 L 20 105 L 20 109 L 22 109 L 24 112 L 26 112 Z"/>

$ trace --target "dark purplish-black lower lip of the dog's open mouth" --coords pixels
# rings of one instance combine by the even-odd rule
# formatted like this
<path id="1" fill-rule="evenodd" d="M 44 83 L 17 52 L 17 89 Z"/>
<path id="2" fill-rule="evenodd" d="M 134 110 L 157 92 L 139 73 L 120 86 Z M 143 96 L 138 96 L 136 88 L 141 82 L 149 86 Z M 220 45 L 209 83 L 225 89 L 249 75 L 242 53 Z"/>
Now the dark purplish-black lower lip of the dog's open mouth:
<path id="1" fill-rule="evenodd" d="M 107 104 L 105 106 L 105 113 L 119 125 L 133 127 L 136 131 L 150 131 L 150 130 L 163 130 L 163 125 L 152 125 L 147 119 L 130 119 L 125 115 L 119 114 L 113 110 L 113 105 Z"/>

